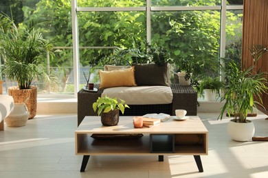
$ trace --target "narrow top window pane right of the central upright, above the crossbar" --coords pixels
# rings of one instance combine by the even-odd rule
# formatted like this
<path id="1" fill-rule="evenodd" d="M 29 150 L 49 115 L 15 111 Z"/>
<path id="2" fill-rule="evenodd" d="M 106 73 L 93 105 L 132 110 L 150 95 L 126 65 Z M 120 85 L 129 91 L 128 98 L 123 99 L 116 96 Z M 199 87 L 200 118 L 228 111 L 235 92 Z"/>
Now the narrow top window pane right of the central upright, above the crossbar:
<path id="1" fill-rule="evenodd" d="M 220 5 L 221 0 L 151 0 L 152 6 L 199 6 L 199 5 Z"/>

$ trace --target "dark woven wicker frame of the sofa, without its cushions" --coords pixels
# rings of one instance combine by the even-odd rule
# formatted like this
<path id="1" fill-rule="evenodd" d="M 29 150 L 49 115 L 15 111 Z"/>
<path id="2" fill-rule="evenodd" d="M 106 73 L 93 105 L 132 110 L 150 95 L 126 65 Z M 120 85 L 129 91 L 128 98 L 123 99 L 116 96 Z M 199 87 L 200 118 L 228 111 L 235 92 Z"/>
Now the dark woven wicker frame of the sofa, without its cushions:
<path id="1" fill-rule="evenodd" d="M 99 88 L 98 84 L 94 85 Z M 157 105 L 129 105 L 131 109 L 126 109 L 124 116 L 142 116 L 148 113 L 166 113 L 175 115 L 175 110 L 187 110 L 188 116 L 197 115 L 197 92 L 192 86 L 181 86 L 179 84 L 170 84 L 173 99 L 170 104 L 157 104 Z M 98 92 L 88 92 L 80 90 L 78 92 L 78 125 L 82 122 L 85 116 L 96 116 L 97 113 L 93 112 L 92 104 L 101 97 L 103 89 Z"/>

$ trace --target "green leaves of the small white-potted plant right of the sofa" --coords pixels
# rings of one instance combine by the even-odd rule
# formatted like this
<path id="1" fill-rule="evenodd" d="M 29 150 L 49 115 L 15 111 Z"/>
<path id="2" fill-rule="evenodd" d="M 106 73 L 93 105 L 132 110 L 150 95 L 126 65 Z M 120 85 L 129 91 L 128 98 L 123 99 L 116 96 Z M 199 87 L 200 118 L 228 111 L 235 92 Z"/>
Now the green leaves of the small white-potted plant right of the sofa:
<path id="1" fill-rule="evenodd" d="M 198 86 L 198 92 L 203 96 L 203 90 L 210 89 L 213 92 L 219 93 L 219 90 L 223 88 L 223 81 L 220 81 L 219 77 L 204 77 Z"/>

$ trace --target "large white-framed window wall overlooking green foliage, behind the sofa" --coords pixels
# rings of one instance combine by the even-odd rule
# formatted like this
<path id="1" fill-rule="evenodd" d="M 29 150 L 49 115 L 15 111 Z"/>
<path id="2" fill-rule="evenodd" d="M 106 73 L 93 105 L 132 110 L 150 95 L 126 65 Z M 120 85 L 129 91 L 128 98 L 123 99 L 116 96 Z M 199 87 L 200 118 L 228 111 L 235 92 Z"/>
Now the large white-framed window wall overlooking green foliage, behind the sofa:
<path id="1" fill-rule="evenodd" d="M 73 7 L 72 2 L 76 2 Z M 16 24 L 30 18 L 43 21 L 45 38 L 54 41 L 54 55 L 47 55 L 46 62 L 48 71 L 57 73 L 58 85 L 36 81 L 39 97 L 76 96 L 85 84 L 84 73 L 87 75 L 91 66 L 102 68 L 102 56 L 114 53 L 116 47 L 132 48 L 138 42 L 164 46 L 174 59 L 218 61 L 225 57 L 224 51 L 228 58 L 241 59 L 243 1 L 240 0 L 10 0 L 10 3 L 12 8 L 5 2 L 0 2 L 0 7 L 5 14 L 13 14 Z M 71 18 L 72 9 L 75 13 Z M 77 40 L 79 47 L 73 45 L 73 40 Z M 3 64 L 3 59 L 0 61 Z M 98 75 L 91 72 L 91 79 L 97 83 Z M 14 85 L 16 81 L 5 79 L 3 92 Z"/>

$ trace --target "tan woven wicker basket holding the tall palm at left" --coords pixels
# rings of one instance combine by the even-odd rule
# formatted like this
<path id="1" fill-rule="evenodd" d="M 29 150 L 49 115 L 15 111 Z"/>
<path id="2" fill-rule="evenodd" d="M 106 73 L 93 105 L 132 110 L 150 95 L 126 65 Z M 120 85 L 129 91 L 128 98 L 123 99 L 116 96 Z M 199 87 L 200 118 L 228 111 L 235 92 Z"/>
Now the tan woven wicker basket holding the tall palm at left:
<path id="1" fill-rule="evenodd" d="M 19 90 L 18 86 L 13 86 L 8 88 L 8 95 L 12 96 L 14 103 L 24 103 L 26 101 L 27 109 L 30 113 L 29 119 L 36 116 L 37 107 L 37 88 L 36 86 L 31 86 L 31 89 Z"/>

